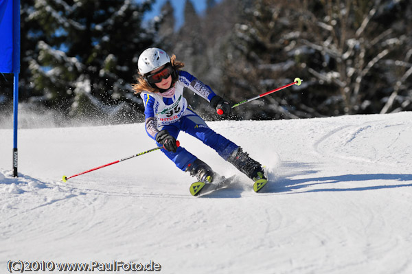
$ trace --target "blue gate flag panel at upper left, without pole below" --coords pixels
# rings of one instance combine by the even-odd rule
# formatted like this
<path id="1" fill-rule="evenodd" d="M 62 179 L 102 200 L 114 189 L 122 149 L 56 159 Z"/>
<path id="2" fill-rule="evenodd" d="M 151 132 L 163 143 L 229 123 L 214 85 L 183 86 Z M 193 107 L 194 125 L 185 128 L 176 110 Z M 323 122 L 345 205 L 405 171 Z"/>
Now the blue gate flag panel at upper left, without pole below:
<path id="1" fill-rule="evenodd" d="M 19 0 L 0 0 L 0 72 L 20 72 Z"/>

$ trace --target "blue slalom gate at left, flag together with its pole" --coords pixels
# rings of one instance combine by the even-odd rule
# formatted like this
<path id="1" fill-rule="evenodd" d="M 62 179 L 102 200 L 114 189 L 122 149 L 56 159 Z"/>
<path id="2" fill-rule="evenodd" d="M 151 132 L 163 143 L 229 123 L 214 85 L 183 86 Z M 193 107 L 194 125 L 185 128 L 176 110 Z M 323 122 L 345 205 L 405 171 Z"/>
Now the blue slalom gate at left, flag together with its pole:
<path id="1" fill-rule="evenodd" d="M 17 176 L 17 108 L 20 72 L 20 0 L 0 0 L 0 72 L 14 74 L 13 176 Z"/>

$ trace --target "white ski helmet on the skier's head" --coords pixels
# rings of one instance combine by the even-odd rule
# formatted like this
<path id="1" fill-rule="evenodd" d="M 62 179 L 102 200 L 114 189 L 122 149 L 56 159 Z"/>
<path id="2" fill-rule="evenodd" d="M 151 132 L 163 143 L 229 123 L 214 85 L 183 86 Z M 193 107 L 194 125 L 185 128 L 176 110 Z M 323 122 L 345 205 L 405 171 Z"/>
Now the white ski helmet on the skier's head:
<path id="1" fill-rule="evenodd" d="M 150 47 L 145 49 L 139 56 L 137 67 L 141 75 L 145 75 L 170 62 L 170 56 L 163 49 Z"/>

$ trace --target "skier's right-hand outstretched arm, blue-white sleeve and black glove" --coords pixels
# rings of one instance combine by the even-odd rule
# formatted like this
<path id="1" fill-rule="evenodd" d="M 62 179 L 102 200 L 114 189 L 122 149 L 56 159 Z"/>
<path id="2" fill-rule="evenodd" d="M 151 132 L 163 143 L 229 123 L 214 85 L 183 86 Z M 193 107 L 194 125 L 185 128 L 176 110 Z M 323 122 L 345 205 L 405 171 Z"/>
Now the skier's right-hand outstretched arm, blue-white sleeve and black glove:
<path id="1" fill-rule="evenodd" d="M 186 71 L 179 71 L 179 80 L 183 82 L 185 87 L 205 98 L 212 108 L 216 110 L 221 109 L 223 115 L 231 114 L 231 104 L 219 95 L 216 95 L 207 84 L 203 84 L 203 82 L 192 76 L 192 74 Z"/>

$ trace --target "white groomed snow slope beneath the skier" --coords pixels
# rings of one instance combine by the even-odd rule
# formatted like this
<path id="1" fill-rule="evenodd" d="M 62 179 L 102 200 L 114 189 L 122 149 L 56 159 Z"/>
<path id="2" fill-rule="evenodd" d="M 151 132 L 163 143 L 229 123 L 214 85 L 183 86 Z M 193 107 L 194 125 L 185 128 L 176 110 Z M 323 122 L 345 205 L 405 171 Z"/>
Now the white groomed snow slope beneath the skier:
<path id="1" fill-rule="evenodd" d="M 192 197 L 160 151 L 59 181 L 155 146 L 143 124 L 19 130 L 14 179 L 0 130 L 0 272 L 152 260 L 161 273 L 412 273 L 412 113 L 208 124 L 268 166 L 262 193 L 185 133 L 238 184 Z"/>

